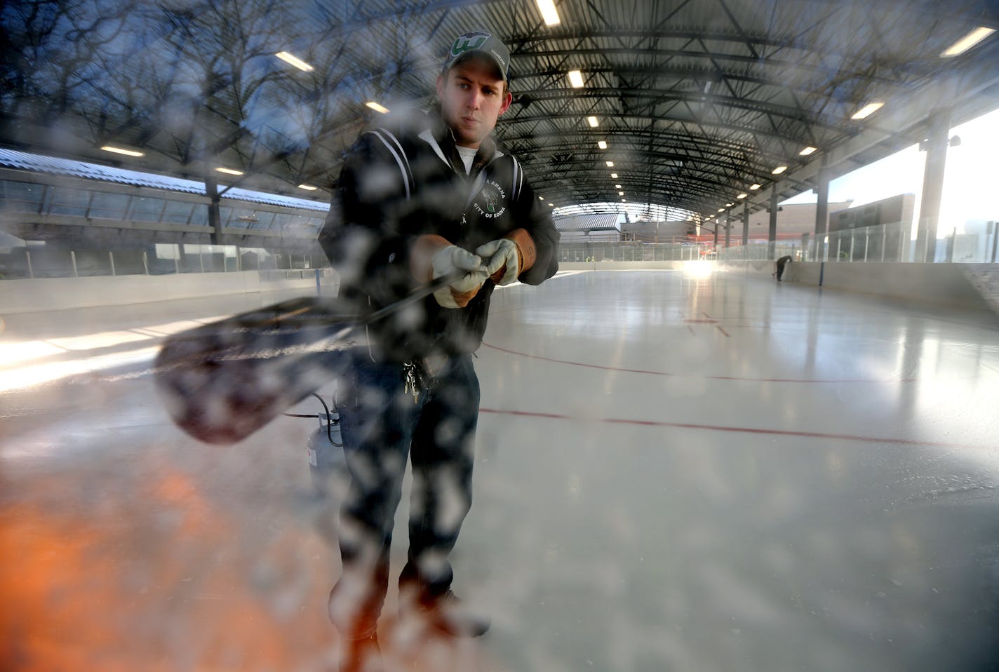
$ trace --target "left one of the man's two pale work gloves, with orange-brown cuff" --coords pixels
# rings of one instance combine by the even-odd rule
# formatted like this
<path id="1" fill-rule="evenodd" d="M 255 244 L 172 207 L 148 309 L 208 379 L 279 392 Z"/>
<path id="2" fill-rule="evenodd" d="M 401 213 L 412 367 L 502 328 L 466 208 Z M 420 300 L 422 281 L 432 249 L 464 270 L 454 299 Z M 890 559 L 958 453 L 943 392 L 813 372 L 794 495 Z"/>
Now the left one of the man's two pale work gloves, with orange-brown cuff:
<path id="1" fill-rule="evenodd" d="M 444 308 L 465 308 L 489 278 L 483 260 L 468 250 L 452 245 L 440 236 L 421 236 L 411 260 L 414 277 L 421 282 L 453 278 L 447 287 L 434 293 Z"/>

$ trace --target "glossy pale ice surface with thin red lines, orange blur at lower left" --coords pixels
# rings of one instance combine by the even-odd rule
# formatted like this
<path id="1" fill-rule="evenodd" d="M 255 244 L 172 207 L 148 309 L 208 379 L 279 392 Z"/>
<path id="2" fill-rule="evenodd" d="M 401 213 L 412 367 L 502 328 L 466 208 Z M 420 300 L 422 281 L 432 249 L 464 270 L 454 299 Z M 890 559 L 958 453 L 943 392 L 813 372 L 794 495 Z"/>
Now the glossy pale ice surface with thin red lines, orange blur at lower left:
<path id="1" fill-rule="evenodd" d="M 280 298 L 4 316 L 0 667 L 335 669 L 317 420 L 199 444 L 149 371 Z M 999 669 L 997 327 L 737 273 L 498 290 L 453 558 L 493 629 L 408 641 L 393 588 L 389 669 Z"/>

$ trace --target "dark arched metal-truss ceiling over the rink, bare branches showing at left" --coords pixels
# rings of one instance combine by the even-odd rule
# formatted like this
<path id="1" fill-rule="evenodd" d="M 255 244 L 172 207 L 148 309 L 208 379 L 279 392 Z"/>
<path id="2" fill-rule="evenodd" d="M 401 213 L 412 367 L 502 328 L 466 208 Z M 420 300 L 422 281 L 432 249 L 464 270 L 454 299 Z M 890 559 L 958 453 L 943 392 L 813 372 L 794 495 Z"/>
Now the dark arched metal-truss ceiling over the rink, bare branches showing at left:
<path id="1" fill-rule="evenodd" d="M 547 25 L 535 0 L 9 0 L 0 145 L 325 201 L 378 123 L 366 103 L 431 104 L 451 42 L 485 29 L 511 52 L 498 135 L 545 201 L 705 219 L 918 142 L 941 110 L 957 124 L 999 107 L 999 33 L 942 56 L 999 28 L 999 0 L 555 8 Z"/>

